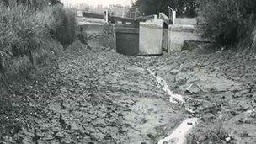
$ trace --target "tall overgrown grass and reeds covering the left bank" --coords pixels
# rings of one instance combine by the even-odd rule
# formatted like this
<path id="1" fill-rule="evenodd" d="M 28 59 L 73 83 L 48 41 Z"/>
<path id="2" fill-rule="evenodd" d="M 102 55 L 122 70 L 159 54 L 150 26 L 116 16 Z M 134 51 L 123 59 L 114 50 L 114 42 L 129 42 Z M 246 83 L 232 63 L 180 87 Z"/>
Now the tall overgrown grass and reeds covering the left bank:
<path id="1" fill-rule="evenodd" d="M 75 15 L 51 5 L 59 1 L 7 1 L 0 4 L 0 82 L 25 75 L 35 64 L 61 52 L 75 39 Z M 50 4 L 50 5 L 49 5 Z"/>

